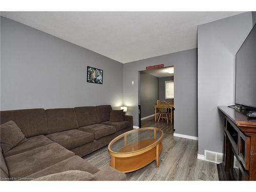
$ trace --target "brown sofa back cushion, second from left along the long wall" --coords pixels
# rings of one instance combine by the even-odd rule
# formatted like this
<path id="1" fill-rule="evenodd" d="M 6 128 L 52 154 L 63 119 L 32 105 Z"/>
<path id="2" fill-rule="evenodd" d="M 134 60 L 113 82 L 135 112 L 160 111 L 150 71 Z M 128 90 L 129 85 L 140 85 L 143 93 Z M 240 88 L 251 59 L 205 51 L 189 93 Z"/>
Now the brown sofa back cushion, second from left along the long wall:
<path id="1" fill-rule="evenodd" d="M 78 129 L 74 108 L 46 110 L 48 134 Z"/>

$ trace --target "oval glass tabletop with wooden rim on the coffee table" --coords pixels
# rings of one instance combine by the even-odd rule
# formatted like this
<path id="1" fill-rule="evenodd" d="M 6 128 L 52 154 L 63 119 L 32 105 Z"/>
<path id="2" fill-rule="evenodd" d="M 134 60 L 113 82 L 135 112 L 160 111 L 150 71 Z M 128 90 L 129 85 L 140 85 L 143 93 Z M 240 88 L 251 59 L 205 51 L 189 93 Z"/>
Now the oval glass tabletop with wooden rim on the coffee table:
<path id="1" fill-rule="evenodd" d="M 162 137 L 162 130 L 156 127 L 143 127 L 116 137 L 108 148 L 114 154 L 135 153 L 157 144 Z"/>

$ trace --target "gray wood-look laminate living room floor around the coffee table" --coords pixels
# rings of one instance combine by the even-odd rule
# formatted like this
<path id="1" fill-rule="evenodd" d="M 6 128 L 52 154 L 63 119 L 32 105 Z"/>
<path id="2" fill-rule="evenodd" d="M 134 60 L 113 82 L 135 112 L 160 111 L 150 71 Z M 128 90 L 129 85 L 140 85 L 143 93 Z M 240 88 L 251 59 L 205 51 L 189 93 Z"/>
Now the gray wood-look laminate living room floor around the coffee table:
<path id="1" fill-rule="evenodd" d="M 154 161 L 135 172 L 127 173 L 127 180 L 218 180 L 216 164 L 197 159 L 198 141 L 164 133 L 162 143 L 159 167 L 156 167 Z M 108 166 L 108 147 L 105 146 L 83 159 L 99 168 Z"/>

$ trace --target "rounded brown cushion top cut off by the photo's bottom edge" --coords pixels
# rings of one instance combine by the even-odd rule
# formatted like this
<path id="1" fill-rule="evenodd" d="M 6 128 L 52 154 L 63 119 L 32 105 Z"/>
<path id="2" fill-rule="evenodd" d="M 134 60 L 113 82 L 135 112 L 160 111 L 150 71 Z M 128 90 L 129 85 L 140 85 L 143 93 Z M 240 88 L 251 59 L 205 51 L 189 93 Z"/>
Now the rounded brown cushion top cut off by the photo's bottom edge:
<path id="1" fill-rule="evenodd" d="M 94 175 L 81 170 L 67 170 L 66 172 L 42 176 L 35 181 L 92 181 Z"/>

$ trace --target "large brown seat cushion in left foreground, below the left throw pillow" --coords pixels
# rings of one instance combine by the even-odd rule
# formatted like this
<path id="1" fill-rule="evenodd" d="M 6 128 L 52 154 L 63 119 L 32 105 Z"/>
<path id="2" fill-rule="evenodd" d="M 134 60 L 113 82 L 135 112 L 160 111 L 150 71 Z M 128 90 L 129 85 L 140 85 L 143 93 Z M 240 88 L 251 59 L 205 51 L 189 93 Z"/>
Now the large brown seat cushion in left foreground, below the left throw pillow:
<path id="1" fill-rule="evenodd" d="M 5 158 L 9 177 L 24 178 L 75 154 L 58 143 L 51 143 Z"/>

